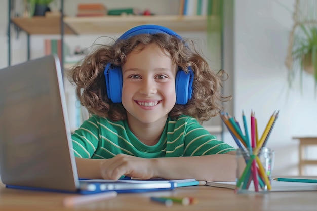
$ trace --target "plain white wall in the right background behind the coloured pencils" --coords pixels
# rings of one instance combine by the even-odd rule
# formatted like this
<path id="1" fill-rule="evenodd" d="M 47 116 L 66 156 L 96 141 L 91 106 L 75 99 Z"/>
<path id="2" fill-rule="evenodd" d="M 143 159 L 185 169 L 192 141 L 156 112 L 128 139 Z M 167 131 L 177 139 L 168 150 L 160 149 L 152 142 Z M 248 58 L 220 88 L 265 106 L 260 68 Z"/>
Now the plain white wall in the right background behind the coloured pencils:
<path id="1" fill-rule="evenodd" d="M 303 95 L 299 81 L 295 89 L 287 85 L 284 63 L 293 14 L 285 7 L 294 11 L 294 4 L 293 0 L 238 0 L 234 7 L 234 115 L 241 122 L 242 110 L 248 117 L 255 111 L 262 134 L 270 115 L 279 110 L 267 144 L 276 151 L 275 175 L 298 174 L 298 141 L 292 137 L 317 135 L 313 77 L 304 76 Z M 226 134 L 225 141 L 232 138 Z M 313 170 L 307 173 L 317 175 Z"/>

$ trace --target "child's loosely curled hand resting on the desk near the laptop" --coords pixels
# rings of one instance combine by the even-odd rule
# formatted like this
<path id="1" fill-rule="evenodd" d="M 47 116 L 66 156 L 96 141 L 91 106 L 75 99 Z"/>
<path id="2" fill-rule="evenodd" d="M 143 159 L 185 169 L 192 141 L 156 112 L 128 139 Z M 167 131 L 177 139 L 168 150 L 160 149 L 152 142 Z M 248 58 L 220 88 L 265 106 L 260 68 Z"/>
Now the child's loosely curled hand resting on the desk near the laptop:
<path id="1" fill-rule="evenodd" d="M 154 160 L 118 154 L 101 162 L 101 175 L 104 179 L 119 179 L 122 175 L 140 179 L 155 176 Z"/>

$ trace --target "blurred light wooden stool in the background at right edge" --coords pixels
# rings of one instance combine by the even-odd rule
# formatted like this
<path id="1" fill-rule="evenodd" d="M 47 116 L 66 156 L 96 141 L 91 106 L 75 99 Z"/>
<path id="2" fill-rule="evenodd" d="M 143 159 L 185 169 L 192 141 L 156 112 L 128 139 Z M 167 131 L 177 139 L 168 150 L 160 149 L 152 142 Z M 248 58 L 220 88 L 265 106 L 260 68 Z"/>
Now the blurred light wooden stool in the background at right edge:
<path id="1" fill-rule="evenodd" d="M 317 137 L 293 137 L 293 139 L 299 140 L 299 175 L 303 175 L 303 167 L 306 165 L 317 165 L 317 160 L 307 159 L 305 154 L 305 147 L 309 145 L 317 145 Z"/>

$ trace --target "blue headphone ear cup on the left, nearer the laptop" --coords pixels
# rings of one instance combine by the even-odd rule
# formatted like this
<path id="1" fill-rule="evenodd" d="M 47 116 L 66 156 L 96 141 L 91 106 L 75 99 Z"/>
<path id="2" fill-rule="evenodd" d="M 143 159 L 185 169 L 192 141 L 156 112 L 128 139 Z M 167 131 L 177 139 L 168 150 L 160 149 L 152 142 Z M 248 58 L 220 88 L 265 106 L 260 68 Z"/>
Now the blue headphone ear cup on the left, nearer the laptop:
<path id="1" fill-rule="evenodd" d="M 110 67 L 111 67 L 111 64 L 107 64 L 104 70 L 108 98 L 113 103 L 121 103 L 122 83 L 123 83 L 122 71 L 121 71 L 121 68 L 118 66 L 112 69 Z"/>

